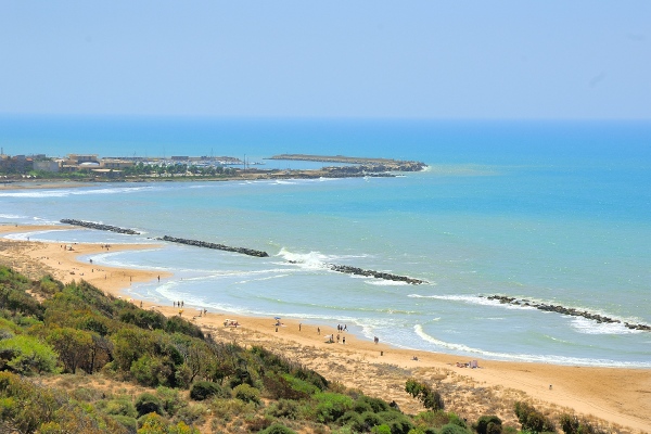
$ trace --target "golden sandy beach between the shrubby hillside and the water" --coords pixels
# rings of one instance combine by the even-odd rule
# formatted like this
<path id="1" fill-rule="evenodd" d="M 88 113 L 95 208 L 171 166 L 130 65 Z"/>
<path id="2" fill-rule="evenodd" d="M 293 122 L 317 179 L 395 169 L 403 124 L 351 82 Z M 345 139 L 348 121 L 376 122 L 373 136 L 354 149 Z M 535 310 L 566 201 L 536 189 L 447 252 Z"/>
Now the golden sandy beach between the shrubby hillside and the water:
<path id="1" fill-rule="evenodd" d="M 0 226 L 0 237 L 59 227 Z M 65 229 L 65 228 L 62 228 Z M 81 263 L 81 255 L 105 252 L 99 244 L 74 244 L 73 251 L 59 243 L 12 241 L 0 238 L 0 264 L 37 279 L 46 273 L 71 282 L 84 279 L 115 296 L 135 282 L 170 278 L 157 271 L 118 269 Z M 152 248 L 152 245 L 112 245 L 110 251 Z M 140 301 L 133 301 L 140 304 Z M 301 324 L 272 318 L 241 317 L 227 312 L 199 315 L 200 306 L 184 306 L 184 318 L 201 326 L 217 340 L 240 345 L 260 345 L 304 366 L 317 370 L 330 381 L 386 400 L 395 400 L 407 413 L 423 408 L 405 392 L 405 381 L 427 381 L 441 391 L 446 409 L 469 421 L 482 414 L 497 413 L 520 426 L 513 419 L 513 403 L 529 400 L 545 411 L 576 412 L 584 417 L 615 424 L 615 432 L 651 432 L 651 370 L 572 367 L 546 363 L 506 362 L 480 359 L 477 369 L 459 368 L 468 358 L 445 354 L 400 349 L 374 344 L 342 333 L 345 344 L 336 343 L 337 324 Z M 143 301 L 143 308 L 157 309 L 167 316 L 179 315 L 171 305 Z M 240 326 L 225 327 L 226 319 Z M 320 328 L 320 334 L 317 332 Z M 334 334 L 335 343 L 326 342 Z M 414 358 L 418 358 L 416 360 Z M 626 429 L 625 429 L 626 427 Z"/>

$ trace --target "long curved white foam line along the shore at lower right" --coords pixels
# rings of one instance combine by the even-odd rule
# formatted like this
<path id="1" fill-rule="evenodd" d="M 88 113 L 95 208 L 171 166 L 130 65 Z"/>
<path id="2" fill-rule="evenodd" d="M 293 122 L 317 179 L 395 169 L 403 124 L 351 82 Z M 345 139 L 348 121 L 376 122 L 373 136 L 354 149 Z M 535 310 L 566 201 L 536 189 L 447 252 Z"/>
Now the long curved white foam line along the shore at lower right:
<path id="1" fill-rule="evenodd" d="M 452 352 L 465 353 L 470 355 L 477 355 L 485 358 L 492 358 L 497 360 L 513 360 L 513 361 L 527 361 L 527 362 L 544 362 L 544 363 L 556 363 L 556 365 L 580 365 L 580 366 L 597 366 L 597 367 L 622 367 L 622 368 L 651 368 L 651 362 L 628 362 L 607 359 L 592 359 L 582 357 L 565 357 L 565 356 L 552 356 L 552 355 L 536 355 L 536 354 L 514 354 L 514 353 L 496 353 L 481 348 L 473 348 L 463 344 L 455 344 L 450 342 L 441 341 L 423 331 L 421 324 L 413 327 L 414 333 L 425 342 L 436 345 L 439 348 L 449 349 Z"/>

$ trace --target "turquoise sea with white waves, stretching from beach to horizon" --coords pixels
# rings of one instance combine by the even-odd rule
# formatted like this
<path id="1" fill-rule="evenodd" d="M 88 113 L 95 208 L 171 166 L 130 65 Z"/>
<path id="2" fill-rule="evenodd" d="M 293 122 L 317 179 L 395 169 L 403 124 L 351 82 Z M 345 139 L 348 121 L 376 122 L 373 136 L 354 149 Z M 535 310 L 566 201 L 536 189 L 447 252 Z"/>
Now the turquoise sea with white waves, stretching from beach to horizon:
<path id="1" fill-rule="evenodd" d="M 651 332 L 482 297 L 651 324 L 649 122 L 3 117 L 0 144 L 8 154 L 246 155 L 280 168 L 309 164 L 263 158 L 425 162 L 427 170 L 396 178 L 4 190 L 0 224 L 75 218 L 143 235 L 76 229 L 29 237 L 153 244 L 169 234 L 270 254 L 164 244 L 92 257 L 171 271 L 128 290 L 161 304 L 347 324 L 366 339 L 462 360 L 651 368 Z M 331 263 L 429 283 L 336 273 L 324 267 Z"/>

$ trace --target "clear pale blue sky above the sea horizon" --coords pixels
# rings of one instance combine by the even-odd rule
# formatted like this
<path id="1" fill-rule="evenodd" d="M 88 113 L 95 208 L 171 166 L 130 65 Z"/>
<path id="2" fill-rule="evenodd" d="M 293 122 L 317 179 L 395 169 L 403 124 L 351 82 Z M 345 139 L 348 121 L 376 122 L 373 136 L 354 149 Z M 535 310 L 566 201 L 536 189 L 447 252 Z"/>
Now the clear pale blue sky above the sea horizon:
<path id="1" fill-rule="evenodd" d="M 651 118 L 651 1 L 0 3 L 0 114 Z"/>

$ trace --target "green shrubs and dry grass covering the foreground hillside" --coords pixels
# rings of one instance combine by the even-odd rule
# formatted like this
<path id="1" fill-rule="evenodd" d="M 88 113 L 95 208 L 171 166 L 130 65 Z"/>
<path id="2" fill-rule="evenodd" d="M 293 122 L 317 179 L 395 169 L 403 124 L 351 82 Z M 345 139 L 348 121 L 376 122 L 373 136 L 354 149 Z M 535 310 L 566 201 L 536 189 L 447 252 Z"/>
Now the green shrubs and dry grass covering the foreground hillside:
<path id="1" fill-rule="evenodd" d="M 521 426 L 464 421 L 409 380 L 425 411 L 346 390 L 260 346 L 216 342 L 180 317 L 104 295 L 87 282 L 33 281 L 0 267 L 2 433 L 600 433 L 526 403 Z M 391 396 L 386 399 L 391 400 Z"/>

